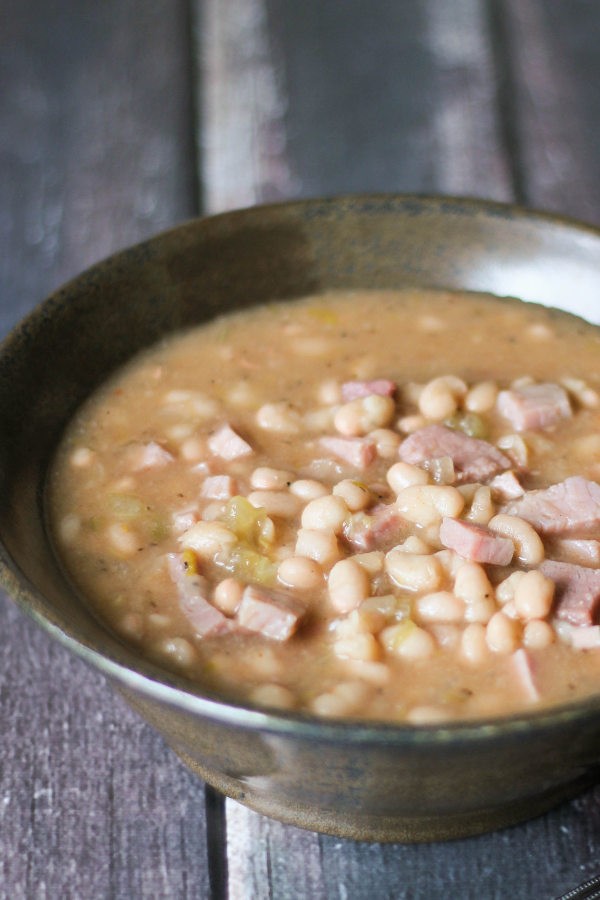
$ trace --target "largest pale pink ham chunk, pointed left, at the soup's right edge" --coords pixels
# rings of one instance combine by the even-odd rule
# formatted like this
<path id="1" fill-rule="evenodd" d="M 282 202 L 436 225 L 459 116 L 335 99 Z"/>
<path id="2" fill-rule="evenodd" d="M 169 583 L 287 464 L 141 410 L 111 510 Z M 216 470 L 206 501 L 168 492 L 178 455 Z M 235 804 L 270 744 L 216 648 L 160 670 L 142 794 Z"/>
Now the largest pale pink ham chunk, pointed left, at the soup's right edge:
<path id="1" fill-rule="evenodd" d="M 542 534 L 577 535 L 600 525 L 600 485 L 574 475 L 541 491 L 528 491 L 504 512 L 520 516 Z"/>

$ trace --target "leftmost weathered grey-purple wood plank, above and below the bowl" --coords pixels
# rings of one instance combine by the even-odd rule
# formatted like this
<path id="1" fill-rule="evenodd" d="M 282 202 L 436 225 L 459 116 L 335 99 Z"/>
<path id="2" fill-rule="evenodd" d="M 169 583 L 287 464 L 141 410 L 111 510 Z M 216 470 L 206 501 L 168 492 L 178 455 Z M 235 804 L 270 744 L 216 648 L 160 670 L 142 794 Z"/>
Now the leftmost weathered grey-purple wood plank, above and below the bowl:
<path id="1" fill-rule="evenodd" d="M 196 211 L 184 0 L 0 0 L 0 328 Z M 202 783 L 0 598 L 0 897 L 209 895 Z"/>

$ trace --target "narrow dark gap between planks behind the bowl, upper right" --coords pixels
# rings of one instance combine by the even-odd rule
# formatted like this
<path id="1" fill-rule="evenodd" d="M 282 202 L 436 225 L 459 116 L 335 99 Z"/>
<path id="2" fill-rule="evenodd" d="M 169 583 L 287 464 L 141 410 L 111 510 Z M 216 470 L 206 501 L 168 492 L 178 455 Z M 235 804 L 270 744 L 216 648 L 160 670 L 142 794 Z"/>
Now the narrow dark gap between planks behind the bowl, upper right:
<path id="1" fill-rule="evenodd" d="M 514 50 L 510 40 L 503 0 L 486 0 L 486 11 L 497 85 L 499 138 L 503 144 L 504 156 L 507 161 L 513 199 L 517 203 L 527 203 L 529 198 L 516 107 L 518 89 L 515 77 Z"/>

